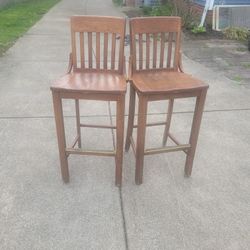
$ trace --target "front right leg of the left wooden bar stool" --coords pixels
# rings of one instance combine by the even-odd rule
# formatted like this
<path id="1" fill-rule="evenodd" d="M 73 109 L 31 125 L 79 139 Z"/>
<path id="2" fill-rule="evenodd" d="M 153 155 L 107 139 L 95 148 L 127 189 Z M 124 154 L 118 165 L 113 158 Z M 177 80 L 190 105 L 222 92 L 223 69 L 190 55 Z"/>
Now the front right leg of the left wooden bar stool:
<path id="1" fill-rule="evenodd" d="M 122 183 L 122 162 L 123 162 L 123 141 L 124 141 L 124 110 L 125 95 L 119 96 L 116 103 L 116 170 L 115 185 L 121 186 Z"/>

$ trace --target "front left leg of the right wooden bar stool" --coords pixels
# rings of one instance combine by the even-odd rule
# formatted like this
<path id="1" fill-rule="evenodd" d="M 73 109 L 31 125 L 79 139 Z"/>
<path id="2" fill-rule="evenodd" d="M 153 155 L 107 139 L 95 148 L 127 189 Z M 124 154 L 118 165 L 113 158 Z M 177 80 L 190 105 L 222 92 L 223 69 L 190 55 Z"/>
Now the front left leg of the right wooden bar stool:
<path id="1" fill-rule="evenodd" d="M 138 109 L 138 128 L 136 141 L 136 166 L 135 166 L 135 183 L 142 184 L 143 162 L 145 149 L 145 135 L 147 122 L 147 104 L 148 100 L 145 96 L 139 95 Z"/>

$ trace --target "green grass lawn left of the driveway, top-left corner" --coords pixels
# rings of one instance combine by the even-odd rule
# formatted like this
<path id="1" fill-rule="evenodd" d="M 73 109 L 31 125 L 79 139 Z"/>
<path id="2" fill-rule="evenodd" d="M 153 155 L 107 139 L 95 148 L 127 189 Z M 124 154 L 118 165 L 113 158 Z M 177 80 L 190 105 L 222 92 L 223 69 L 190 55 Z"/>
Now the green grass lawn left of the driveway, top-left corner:
<path id="1" fill-rule="evenodd" d="M 60 0 L 24 0 L 0 9 L 0 55 Z"/>

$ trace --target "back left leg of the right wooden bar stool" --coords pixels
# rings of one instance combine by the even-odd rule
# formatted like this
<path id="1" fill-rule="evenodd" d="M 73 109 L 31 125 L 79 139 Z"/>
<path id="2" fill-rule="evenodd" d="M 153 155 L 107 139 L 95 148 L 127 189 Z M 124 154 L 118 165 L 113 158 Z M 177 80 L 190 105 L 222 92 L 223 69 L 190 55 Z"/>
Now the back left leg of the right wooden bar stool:
<path id="1" fill-rule="evenodd" d="M 130 144 L 131 144 L 130 138 L 133 134 L 134 117 L 135 117 L 135 89 L 132 86 L 132 84 L 130 84 L 128 128 L 127 128 L 127 136 L 126 136 L 126 144 L 125 144 L 126 152 L 128 152 L 130 148 Z"/>

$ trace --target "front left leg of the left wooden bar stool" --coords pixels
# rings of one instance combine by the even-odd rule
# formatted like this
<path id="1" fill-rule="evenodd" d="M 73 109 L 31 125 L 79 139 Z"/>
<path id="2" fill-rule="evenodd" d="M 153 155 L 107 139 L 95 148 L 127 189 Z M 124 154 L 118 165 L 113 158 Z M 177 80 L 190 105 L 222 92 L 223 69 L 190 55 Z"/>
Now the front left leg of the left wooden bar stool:
<path id="1" fill-rule="evenodd" d="M 58 142 L 60 163 L 61 163 L 61 174 L 63 181 L 67 183 L 69 182 L 69 169 L 68 169 L 68 160 L 65 152 L 66 140 L 65 140 L 64 122 L 63 122 L 62 99 L 60 97 L 60 94 L 57 92 L 52 92 L 52 95 L 53 95 L 53 105 L 54 105 L 55 122 L 56 122 L 57 142 Z"/>

